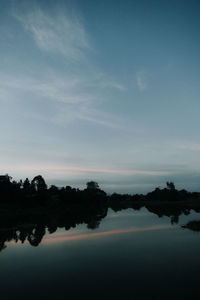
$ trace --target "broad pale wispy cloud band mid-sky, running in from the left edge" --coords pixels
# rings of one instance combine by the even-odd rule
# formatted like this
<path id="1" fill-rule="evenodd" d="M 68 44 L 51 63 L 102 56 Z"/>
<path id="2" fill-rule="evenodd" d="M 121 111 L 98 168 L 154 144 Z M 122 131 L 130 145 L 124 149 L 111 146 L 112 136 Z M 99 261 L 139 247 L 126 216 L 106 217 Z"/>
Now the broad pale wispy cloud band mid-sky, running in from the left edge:
<path id="1" fill-rule="evenodd" d="M 40 75 L 41 76 L 41 75 Z M 101 102 L 98 94 L 86 91 L 88 85 L 96 85 L 96 80 L 82 78 L 82 76 L 70 76 L 50 72 L 40 78 L 28 76 L 6 75 L 0 72 L 0 101 L 24 101 L 24 97 L 33 101 L 51 102 L 54 115 L 51 119 L 42 115 L 41 111 L 33 113 L 30 117 L 43 118 L 46 121 L 60 125 L 74 120 L 84 120 L 109 128 L 123 128 L 123 120 L 97 109 L 97 104 Z M 21 112 L 22 113 L 22 112 Z M 27 112 L 26 112 L 27 113 Z"/>

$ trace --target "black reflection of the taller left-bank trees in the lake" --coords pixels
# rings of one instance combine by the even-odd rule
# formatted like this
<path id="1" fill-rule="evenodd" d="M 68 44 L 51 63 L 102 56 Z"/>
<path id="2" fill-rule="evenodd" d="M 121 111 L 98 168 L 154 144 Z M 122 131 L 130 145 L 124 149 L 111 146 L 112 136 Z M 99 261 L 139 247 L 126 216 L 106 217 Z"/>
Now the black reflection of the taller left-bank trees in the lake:
<path id="1" fill-rule="evenodd" d="M 6 222 L 5 226 L 1 223 L 1 227 L 8 228 L 10 225 L 11 229 L 5 229 L 0 231 L 0 251 L 6 248 L 5 243 L 10 241 L 15 241 L 16 243 L 20 241 L 22 244 L 28 241 L 31 246 L 37 247 L 41 242 L 46 233 L 46 229 L 50 234 L 56 232 L 58 228 L 65 228 L 65 230 L 70 230 L 75 228 L 79 224 L 87 224 L 89 229 L 96 229 L 101 223 L 101 220 L 107 215 L 107 206 L 97 205 L 97 207 L 84 207 L 79 210 L 72 209 L 66 211 L 59 210 L 57 212 L 51 211 L 45 216 L 35 216 L 31 220 L 27 217 L 23 224 L 18 221 L 14 224 L 13 221 L 8 224 Z M 14 228 L 14 229 L 13 229 Z"/>

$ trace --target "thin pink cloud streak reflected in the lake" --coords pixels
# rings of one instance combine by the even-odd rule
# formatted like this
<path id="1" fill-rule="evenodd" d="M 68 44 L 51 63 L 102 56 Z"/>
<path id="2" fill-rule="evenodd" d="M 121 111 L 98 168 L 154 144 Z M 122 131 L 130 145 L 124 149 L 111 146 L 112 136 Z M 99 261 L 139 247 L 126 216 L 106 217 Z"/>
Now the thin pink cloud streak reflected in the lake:
<path id="1" fill-rule="evenodd" d="M 153 231 L 153 230 L 162 230 L 171 228 L 171 225 L 159 225 L 159 226 L 152 226 L 152 227 L 145 227 L 145 228 L 128 228 L 128 229 L 118 229 L 118 230 L 110 230 L 104 232 L 94 232 L 94 233 L 83 233 L 68 236 L 67 233 L 63 236 L 57 235 L 56 233 L 52 237 L 45 237 L 42 241 L 43 244 L 52 244 L 52 243 L 60 243 L 60 242 L 67 242 L 67 241 L 76 241 L 76 240 L 84 240 L 88 238 L 96 238 L 96 237 L 105 237 L 110 235 L 117 235 L 122 233 L 134 233 L 134 232 L 144 232 L 144 231 Z"/>

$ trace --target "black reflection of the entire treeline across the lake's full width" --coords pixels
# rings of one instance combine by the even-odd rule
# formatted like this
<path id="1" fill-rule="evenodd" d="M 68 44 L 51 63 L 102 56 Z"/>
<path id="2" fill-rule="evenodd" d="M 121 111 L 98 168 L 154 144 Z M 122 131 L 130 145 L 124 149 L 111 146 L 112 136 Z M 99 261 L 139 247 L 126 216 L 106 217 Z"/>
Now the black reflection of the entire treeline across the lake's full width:
<path id="1" fill-rule="evenodd" d="M 91 194 L 92 197 L 92 194 Z M 46 229 L 50 234 L 56 232 L 58 228 L 65 228 L 70 230 L 75 228 L 79 224 L 86 224 L 89 229 L 96 229 L 99 227 L 101 220 L 107 216 L 108 208 L 111 207 L 114 211 L 122 209 L 132 208 L 139 210 L 141 207 L 146 207 L 150 213 L 156 214 L 158 217 L 167 216 L 170 218 L 172 224 L 179 222 L 179 216 L 181 214 L 188 215 L 191 208 L 184 206 L 176 206 L 174 204 L 159 205 L 148 204 L 145 206 L 142 203 L 125 201 L 121 202 L 105 202 L 105 201 L 88 201 L 83 204 L 70 204 L 61 208 L 50 209 L 43 208 L 43 213 L 36 213 L 34 210 L 32 215 L 25 214 L 23 218 L 5 218 L 4 221 L 0 219 L 0 228 L 7 228 L 0 230 L 0 251 L 6 248 L 5 243 L 10 241 L 19 241 L 21 243 L 28 242 L 32 246 L 38 246 L 46 233 Z M 194 209 L 196 212 L 200 212 L 199 208 Z M 34 224 L 34 225 L 30 225 Z M 200 231 L 200 221 L 197 223 L 190 223 L 184 226 L 195 231 Z"/>

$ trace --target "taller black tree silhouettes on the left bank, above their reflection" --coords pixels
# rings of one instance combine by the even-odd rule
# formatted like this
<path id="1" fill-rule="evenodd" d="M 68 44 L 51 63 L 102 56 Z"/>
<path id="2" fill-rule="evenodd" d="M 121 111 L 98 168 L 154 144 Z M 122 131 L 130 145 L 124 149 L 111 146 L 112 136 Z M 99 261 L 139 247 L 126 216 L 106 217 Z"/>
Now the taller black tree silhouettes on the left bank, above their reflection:
<path id="1" fill-rule="evenodd" d="M 51 185 L 49 188 L 41 175 L 35 176 L 32 181 L 28 178 L 23 182 L 12 181 L 8 175 L 0 176 L 0 204 L 27 205 L 59 205 L 61 202 L 79 203 L 90 200 L 101 201 L 106 199 L 106 193 L 102 191 L 94 181 L 87 183 L 83 191 L 70 186 L 58 188 Z"/>

